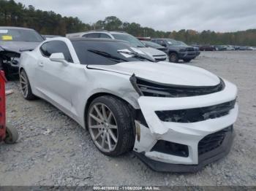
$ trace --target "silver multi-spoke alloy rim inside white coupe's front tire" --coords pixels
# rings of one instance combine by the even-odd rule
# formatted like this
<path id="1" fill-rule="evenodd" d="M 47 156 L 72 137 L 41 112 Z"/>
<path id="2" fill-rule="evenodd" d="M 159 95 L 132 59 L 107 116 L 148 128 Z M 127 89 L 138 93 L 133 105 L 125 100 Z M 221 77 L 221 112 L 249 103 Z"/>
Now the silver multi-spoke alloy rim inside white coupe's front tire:
<path id="1" fill-rule="evenodd" d="M 113 112 L 102 103 L 89 110 L 89 132 L 94 144 L 102 152 L 112 152 L 118 143 L 118 127 Z"/>

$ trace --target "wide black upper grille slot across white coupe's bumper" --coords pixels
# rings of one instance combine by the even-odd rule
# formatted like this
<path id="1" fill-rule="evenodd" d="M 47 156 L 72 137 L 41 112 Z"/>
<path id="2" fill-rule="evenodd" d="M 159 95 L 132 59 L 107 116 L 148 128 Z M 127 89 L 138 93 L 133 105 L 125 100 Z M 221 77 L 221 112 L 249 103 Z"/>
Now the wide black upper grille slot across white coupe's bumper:
<path id="1" fill-rule="evenodd" d="M 164 122 L 200 122 L 209 119 L 223 117 L 229 114 L 234 108 L 236 100 L 218 104 L 215 106 L 206 106 L 193 109 L 179 109 L 170 111 L 157 111 L 156 114 Z"/>

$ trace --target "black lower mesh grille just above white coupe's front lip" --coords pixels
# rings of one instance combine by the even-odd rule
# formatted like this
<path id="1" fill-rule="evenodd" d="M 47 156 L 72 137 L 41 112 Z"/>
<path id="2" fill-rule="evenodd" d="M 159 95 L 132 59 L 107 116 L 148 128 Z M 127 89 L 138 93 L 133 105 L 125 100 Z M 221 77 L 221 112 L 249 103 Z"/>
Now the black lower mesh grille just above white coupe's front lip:
<path id="1" fill-rule="evenodd" d="M 233 131 L 233 126 L 230 126 L 228 128 L 219 130 L 216 133 L 212 133 L 204 137 L 198 143 L 198 155 L 203 155 L 206 152 L 210 152 L 211 150 L 214 150 L 220 147 L 227 133 L 232 131 Z"/>

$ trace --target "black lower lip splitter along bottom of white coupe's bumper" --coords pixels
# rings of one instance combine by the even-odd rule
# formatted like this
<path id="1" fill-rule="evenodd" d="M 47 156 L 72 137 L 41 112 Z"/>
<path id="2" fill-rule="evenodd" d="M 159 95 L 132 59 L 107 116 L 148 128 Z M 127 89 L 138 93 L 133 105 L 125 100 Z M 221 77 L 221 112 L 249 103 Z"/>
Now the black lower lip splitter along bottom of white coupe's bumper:
<path id="1" fill-rule="evenodd" d="M 140 158 L 146 165 L 149 166 L 154 171 L 160 172 L 176 172 L 176 173 L 195 173 L 202 170 L 209 163 L 213 163 L 216 160 L 225 157 L 231 149 L 233 138 L 235 136 L 234 130 L 230 130 L 226 133 L 225 139 L 222 145 L 217 149 L 206 152 L 198 157 L 198 165 L 181 165 L 181 164 L 171 164 L 163 163 L 157 160 L 151 160 L 145 156 L 144 152 L 135 152 L 135 155 Z"/>

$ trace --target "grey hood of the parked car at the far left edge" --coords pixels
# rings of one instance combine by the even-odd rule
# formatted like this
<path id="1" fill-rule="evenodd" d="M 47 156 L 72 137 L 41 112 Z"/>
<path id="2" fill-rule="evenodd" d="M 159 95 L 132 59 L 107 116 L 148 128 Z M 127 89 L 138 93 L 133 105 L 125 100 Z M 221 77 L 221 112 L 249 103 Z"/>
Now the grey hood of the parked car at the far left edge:
<path id="1" fill-rule="evenodd" d="M 18 52 L 20 49 L 34 50 L 41 42 L 0 42 L 0 47 L 7 51 Z"/>

